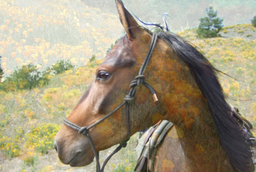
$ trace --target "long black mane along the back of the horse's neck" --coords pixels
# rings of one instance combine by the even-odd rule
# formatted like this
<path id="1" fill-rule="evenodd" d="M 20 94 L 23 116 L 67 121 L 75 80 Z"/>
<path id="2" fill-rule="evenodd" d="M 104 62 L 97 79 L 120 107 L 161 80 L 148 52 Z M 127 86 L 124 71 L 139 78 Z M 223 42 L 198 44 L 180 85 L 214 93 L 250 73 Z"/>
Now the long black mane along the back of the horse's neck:
<path id="1" fill-rule="evenodd" d="M 241 127 L 237 118 L 234 117 L 234 111 L 225 101 L 223 90 L 216 76 L 219 71 L 196 48 L 176 34 L 161 31 L 158 36 L 170 45 L 194 74 L 199 89 L 207 99 L 221 145 L 228 155 L 230 164 L 236 171 L 254 171 L 252 142 L 250 142 L 250 138 L 253 138 L 252 133 L 250 129 Z"/>

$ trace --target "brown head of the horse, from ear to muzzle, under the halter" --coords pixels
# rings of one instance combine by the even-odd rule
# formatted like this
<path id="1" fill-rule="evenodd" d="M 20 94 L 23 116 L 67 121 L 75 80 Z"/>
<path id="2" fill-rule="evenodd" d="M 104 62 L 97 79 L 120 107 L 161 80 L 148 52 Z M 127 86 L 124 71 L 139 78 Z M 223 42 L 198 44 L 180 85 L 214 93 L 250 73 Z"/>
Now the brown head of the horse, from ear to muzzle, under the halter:
<path id="1" fill-rule="evenodd" d="M 79 126 L 94 124 L 124 101 L 130 82 L 138 75 L 150 47 L 150 32 L 137 24 L 122 1 L 116 0 L 116 7 L 126 34 L 98 66 L 93 82 L 68 116 L 70 122 Z M 127 140 L 128 132 L 134 134 L 157 122 L 152 120 L 152 114 L 159 111 L 158 107 L 143 85 L 137 88 L 136 97 L 129 104 L 132 104 L 130 131 L 127 131 L 125 108 L 120 108 L 90 129 L 90 137 L 97 152 Z M 94 154 L 88 137 L 67 125 L 62 125 L 55 141 L 54 145 L 64 164 L 85 166 L 93 161 Z"/>

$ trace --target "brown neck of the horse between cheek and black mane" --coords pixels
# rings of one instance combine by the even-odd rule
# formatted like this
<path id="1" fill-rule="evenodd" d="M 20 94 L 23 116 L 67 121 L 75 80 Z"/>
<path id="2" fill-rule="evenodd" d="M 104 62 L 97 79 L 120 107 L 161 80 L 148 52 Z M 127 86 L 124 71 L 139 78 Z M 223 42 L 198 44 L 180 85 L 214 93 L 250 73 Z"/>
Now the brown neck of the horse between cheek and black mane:
<path id="1" fill-rule="evenodd" d="M 156 85 L 163 118 L 179 128 L 178 135 L 186 157 L 195 164 L 202 159 L 212 160 L 212 157 L 225 162 L 227 156 L 220 147 L 207 101 L 188 66 L 165 43 L 160 43 L 155 54 L 148 69 L 151 75 L 148 82 Z"/>

